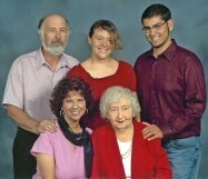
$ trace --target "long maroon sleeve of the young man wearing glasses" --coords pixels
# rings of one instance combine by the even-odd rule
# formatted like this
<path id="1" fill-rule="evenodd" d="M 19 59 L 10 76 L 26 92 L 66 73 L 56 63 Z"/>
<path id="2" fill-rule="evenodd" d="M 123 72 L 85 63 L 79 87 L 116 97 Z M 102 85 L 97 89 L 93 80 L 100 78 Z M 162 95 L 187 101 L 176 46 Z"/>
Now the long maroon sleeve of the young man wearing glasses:
<path id="1" fill-rule="evenodd" d="M 205 72 L 200 60 L 196 54 L 189 57 L 185 69 L 185 111 L 174 113 L 169 128 L 165 128 L 166 137 L 186 130 L 196 121 L 200 123 L 206 109 L 206 81 Z"/>

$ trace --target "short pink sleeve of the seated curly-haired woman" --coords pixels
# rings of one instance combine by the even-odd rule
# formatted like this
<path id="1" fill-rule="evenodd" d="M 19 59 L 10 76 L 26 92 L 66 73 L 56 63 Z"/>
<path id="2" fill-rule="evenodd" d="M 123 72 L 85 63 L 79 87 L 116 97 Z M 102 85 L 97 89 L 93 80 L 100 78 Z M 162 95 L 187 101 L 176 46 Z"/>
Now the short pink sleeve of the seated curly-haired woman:
<path id="1" fill-rule="evenodd" d="M 36 153 L 43 153 L 53 157 L 53 147 L 50 135 L 50 132 L 44 132 L 39 136 L 31 149 L 31 155 L 36 156 Z"/>

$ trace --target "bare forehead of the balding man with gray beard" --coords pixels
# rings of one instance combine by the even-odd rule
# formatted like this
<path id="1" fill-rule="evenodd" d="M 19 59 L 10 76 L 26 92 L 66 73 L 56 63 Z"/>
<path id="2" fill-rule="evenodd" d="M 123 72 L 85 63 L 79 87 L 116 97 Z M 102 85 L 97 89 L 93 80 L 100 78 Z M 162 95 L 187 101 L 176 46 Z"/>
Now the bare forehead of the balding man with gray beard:
<path id="1" fill-rule="evenodd" d="M 67 28 L 66 20 L 60 16 L 50 16 L 43 21 L 44 28 Z"/>

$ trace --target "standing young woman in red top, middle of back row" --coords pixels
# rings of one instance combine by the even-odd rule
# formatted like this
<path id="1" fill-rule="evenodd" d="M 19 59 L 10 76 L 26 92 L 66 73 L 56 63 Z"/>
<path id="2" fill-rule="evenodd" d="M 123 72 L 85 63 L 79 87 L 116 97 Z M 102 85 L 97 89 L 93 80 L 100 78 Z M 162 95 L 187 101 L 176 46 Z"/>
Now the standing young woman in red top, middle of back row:
<path id="1" fill-rule="evenodd" d="M 88 42 L 91 46 L 91 56 L 73 67 L 68 76 L 80 77 L 90 84 L 95 106 L 90 120 L 85 120 L 85 123 L 96 129 L 105 125 L 99 113 L 102 92 L 111 86 L 121 86 L 135 91 L 136 76 L 130 63 L 111 57 L 115 50 L 122 48 L 118 30 L 111 21 L 96 21 L 90 28 Z"/>

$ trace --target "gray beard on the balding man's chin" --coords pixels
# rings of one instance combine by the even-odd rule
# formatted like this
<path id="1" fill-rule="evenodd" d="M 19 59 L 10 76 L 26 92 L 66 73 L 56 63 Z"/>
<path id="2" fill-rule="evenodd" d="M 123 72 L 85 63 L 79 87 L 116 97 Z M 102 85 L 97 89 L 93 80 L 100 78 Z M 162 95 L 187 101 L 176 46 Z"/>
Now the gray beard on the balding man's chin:
<path id="1" fill-rule="evenodd" d="M 57 44 L 46 46 L 46 43 L 42 41 L 42 47 L 49 53 L 51 53 L 53 56 L 60 56 L 65 51 L 67 43 L 66 44 L 58 44 L 58 46 Z"/>

